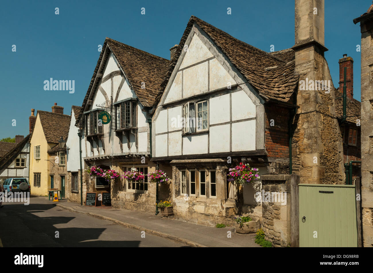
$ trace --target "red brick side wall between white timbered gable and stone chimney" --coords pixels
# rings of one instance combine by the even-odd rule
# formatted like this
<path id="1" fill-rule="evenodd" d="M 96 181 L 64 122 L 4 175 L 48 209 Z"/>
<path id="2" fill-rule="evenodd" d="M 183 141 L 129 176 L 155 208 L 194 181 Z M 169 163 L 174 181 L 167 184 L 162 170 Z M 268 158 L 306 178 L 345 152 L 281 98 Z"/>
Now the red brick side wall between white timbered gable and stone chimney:
<path id="1" fill-rule="evenodd" d="M 268 104 L 266 111 L 266 150 L 269 157 L 289 157 L 288 108 Z M 271 121 L 273 120 L 273 121 Z M 273 124 L 273 126 L 271 126 Z"/>

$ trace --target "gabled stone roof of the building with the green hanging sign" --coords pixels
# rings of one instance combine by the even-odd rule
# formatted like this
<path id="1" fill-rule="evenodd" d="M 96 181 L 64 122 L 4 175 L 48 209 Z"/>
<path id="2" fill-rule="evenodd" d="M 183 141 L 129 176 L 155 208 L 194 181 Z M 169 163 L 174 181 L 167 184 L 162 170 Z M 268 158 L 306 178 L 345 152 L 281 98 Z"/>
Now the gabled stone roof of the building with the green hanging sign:
<path id="1" fill-rule="evenodd" d="M 131 89 L 136 93 L 141 104 L 145 107 L 152 107 L 164 75 L 166 74 L 170 65 L 170 60 L 158 57 L 106 37 L 79 116 L 84 112 L 88 98 L 90 97 L 91 89 L 94 88 L 93 92 L 97 92 L 97 83 L 95 86 L 93 86 L 93 84 L 97 74 L 103 73 L 107 58 L 109 57 L 109 52 L 107 52 L 107 54 L 104 56 L 104 49 L 106 46 L 108 46 L 110 51 L 114 54 L 120 68 L 125 73 L 125 76 L 131 85 Z M 102 61 L 103 65 L 101 66 L 101 71 L 98 72 Z M 144 89 L 141 88 L 142 82 L 145 83 Z M 91 95 L 91 99 L 93 98 L 93 94 Z M 78 120 L 76 121 L 75 125 L 78 125 Z"/>

